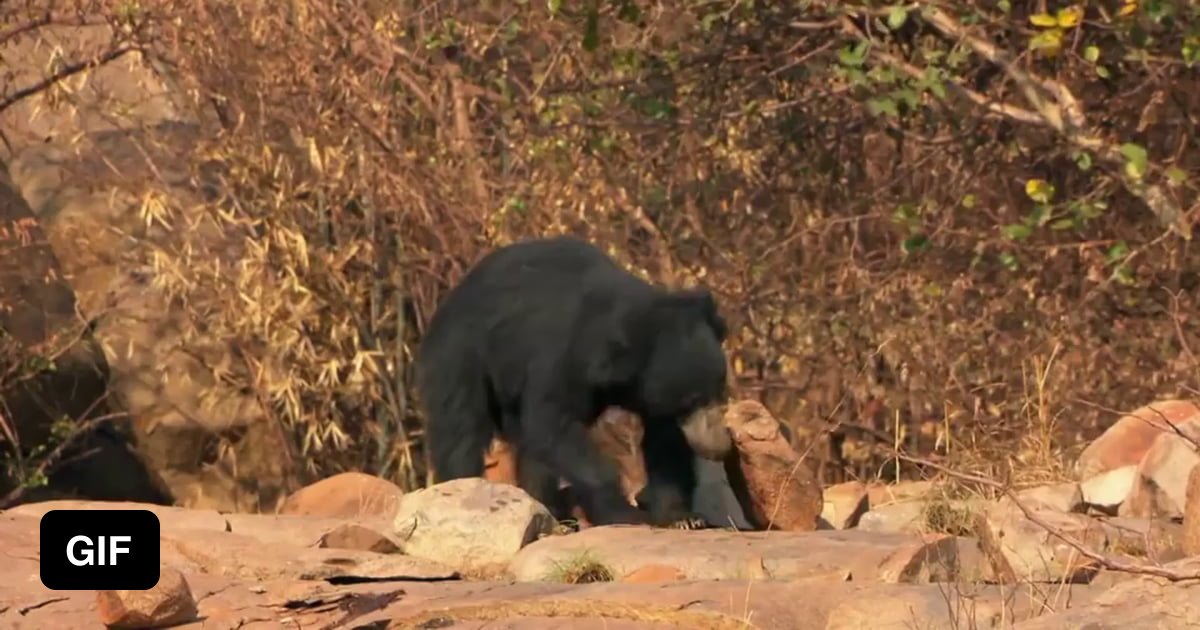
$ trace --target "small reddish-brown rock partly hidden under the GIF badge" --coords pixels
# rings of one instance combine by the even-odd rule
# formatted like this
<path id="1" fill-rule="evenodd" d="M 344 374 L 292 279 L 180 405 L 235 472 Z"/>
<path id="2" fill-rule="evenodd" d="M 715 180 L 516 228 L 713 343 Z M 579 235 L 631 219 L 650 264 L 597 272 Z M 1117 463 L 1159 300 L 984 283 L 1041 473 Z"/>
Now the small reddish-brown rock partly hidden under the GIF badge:
<path id="1" fill-rule="evenodd" d="M 114 629 L 166 628 L 197 616 L 187 580 L 174 569 L 162 569 L 149 590 L 100 590 L 96 605 L 101 623 Z"/>

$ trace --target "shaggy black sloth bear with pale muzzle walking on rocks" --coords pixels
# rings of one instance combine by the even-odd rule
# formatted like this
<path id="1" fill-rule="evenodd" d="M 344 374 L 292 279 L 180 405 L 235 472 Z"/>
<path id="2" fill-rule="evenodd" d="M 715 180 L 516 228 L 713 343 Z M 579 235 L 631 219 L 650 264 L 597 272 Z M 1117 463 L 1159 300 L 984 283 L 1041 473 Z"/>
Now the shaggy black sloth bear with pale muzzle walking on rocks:
<path id="1" fill-rule="evenodd" d="M 521 487 L 559 518 L 564 478 L 594 524 L 703 527 L 695 457 L 732 448 L 724 426 L 724 443 L 708 426 L 727 392 L 725 335 L 707 289 L 654 287 L 580 239 L 500 247 L 446 295 L 418 350 L 434 476 L 482 475 L 499 434 Z M 608 406 L 644 426 L 636 508 L 588 434 Z"/>

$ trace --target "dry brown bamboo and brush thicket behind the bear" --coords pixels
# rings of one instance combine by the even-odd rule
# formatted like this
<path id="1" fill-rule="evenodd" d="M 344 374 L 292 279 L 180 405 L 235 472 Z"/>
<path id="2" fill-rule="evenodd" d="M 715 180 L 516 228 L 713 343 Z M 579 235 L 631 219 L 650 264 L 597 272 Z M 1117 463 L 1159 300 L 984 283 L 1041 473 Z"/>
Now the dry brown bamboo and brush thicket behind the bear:
<path id="1" fill-rule="evenodd" d="M 203 130 L 198 194 L 125 182 L 133 253 L 313 473 L 425 482 L 421 326 L 534 234 L 712 286 L 739 394 L 828 433 L 826 481 L 1054 476 L 1196 374 L 1184 0 L 77 4 Z"/>

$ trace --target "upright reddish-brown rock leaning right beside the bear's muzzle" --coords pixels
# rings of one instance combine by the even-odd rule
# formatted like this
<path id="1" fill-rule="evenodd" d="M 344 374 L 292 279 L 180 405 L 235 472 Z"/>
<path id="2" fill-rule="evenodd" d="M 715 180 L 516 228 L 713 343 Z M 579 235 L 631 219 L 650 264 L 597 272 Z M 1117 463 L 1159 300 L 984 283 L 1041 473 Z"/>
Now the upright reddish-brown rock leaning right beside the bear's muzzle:
<path id="1" fill-rule="evenodd" d="M 816 529 L 824 505 L 821 485 L 779 420 L 757 401 L 738 401 L 726 410 L 725 424 L 734 444 L 725 473 L 746 520 L 760 529 Z"/>

